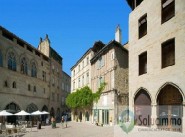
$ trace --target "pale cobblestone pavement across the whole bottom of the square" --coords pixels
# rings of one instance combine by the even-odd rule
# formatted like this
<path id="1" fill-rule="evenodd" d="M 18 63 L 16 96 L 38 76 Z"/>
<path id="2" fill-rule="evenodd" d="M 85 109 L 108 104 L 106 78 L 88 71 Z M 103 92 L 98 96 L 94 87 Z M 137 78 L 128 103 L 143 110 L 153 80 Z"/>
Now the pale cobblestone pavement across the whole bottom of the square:
<path id="1" fill-rule="evenodd" d="M 89 123 L 69 122 L 68 128 L 57 124 L 55 129 L 51 126 L 42 126 L 40 130 L 36 127 L 32 131 L 27 129 L 27 133 L 22 137 L 185 137 L 185 134 L 141 127 L 134 127 L 130 133 L 126 134 L 119 126 L 100 127 Z"/>

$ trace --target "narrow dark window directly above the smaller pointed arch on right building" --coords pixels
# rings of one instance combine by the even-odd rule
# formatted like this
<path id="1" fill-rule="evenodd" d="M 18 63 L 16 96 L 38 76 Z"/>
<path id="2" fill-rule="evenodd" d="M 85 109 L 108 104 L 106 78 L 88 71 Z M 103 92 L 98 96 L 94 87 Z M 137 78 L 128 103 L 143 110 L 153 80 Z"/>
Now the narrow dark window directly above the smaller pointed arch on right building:
<path id="1" fill-rule="evenodd" d="M 147 52 L 139 55 L 139 75 L 147 73 Z"/>

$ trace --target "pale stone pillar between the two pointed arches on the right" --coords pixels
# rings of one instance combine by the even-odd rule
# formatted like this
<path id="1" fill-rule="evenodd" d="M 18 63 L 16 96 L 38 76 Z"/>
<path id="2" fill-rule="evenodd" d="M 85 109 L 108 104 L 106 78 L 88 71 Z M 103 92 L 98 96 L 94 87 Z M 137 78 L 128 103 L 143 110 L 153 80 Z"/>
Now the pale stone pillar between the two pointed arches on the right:
<path id="1" fill-rule="evenodd" d="M 157 119 L 157 104 L 153 103 L 151 105 L 151 127 L 152 128 L 157 128 L 156 119 Z"/>

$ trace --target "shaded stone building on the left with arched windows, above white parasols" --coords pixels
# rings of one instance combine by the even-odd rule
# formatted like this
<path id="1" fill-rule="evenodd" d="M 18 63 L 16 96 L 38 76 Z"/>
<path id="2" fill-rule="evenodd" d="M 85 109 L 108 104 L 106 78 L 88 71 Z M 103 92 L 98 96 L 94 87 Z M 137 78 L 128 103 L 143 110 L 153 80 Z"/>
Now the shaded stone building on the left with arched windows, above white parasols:
<path id="1" fill-rule="evenodd" d="M 0 110 L 45 110 L 60 116 L 62 57 L 47 35 L 36 49 L 0 27 L 0 77 Z"/>

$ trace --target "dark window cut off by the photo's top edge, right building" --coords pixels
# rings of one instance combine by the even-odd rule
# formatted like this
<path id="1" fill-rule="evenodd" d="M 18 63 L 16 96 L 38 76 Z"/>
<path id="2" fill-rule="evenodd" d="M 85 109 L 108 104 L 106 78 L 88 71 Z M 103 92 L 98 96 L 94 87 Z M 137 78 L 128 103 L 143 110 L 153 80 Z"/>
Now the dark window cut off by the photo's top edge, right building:
<path id="1" fill-rule="evenodd" d="M 175 0 L 162 0 L 162 17 L 161 22 L 164 23 L 175 16 Z"/>

